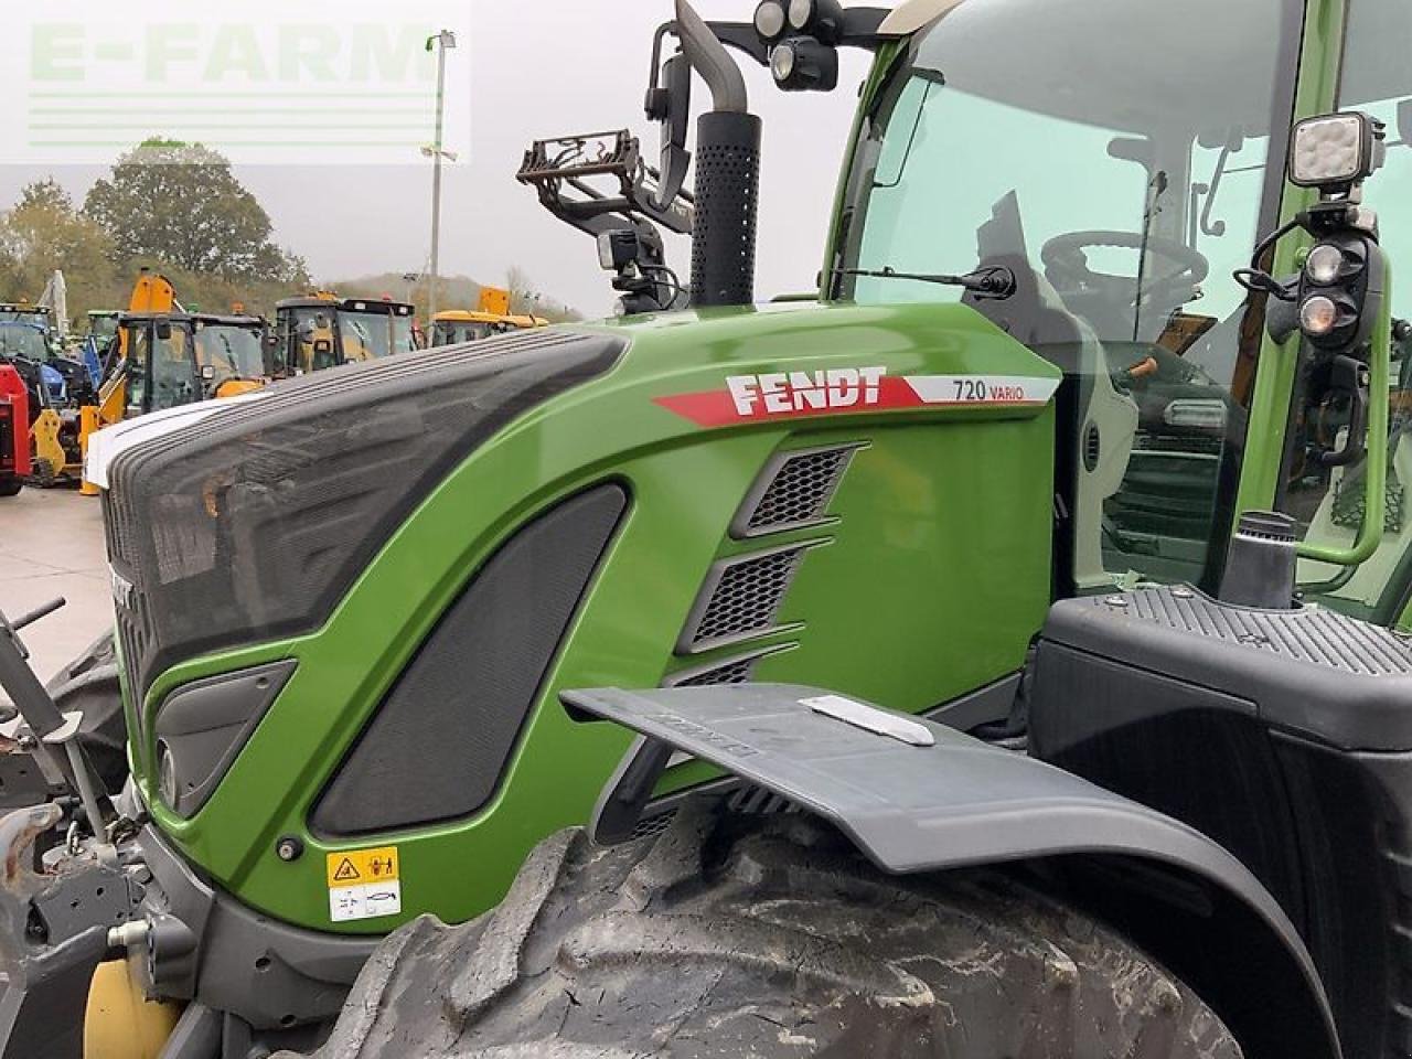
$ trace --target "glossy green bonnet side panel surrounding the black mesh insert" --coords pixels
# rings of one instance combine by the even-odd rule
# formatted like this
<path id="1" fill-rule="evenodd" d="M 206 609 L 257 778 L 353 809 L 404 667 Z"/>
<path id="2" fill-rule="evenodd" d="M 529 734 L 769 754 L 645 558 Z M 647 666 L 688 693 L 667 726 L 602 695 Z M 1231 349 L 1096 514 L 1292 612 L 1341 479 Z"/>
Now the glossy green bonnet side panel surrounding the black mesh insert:
<path id="1" fill-rule="evenodd" d="M 195 659 L 158 678 L 175 686 L 274 658 L 298 668 L 222 785 L 189 820 L 137 781 L 158 826 L 209 878 L 280 919 L 384 932 L 418 912 L 474 916 L 504 892 L 544 834 L 582 823 L 627 746 L 604 724 L 572 722 L 568 686 L 644 686 L 710 661 L 674 645 L 710 565 L 795 539 L 825 541 L 785 597 L 798 644 L 758 679 L 809 674 L 905 709 L 936 705 L 1014 671 L 1048 604 L 1052 421 L 1039 405 L 863 408 L 702 428 L 657 398 L 723 391 L 737 373 L 882 366 L 901 374 L 1053 380 L 1058 371 L 971 309 L 770 306 L 641 319 L 607 376 L 501 431 L 450 473 L 385 544 L 328 623 L 295 640 Z M 781 448 L 861 442 L 830 521 L 758 542 L 729 525 Z M 631 508 L 541 689 L 504 782 L 470 819 L 366 842 L 330 842 L 305 823 L 346 748 L 473 572 L 535 511 L 604 479 Z M 987 599 L 986 621 L 973 600 Z M 285 863 L 277 840 L 306 853 Z M 325 854 L 395 844 L 402 915 L 332 925 Z"/>

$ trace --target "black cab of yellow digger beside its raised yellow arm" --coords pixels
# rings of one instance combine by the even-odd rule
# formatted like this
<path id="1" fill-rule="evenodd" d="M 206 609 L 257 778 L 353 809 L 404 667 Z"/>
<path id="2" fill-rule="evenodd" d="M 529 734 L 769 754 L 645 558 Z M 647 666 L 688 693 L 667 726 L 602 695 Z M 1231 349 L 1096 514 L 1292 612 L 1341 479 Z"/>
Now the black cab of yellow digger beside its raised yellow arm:
<path id="1" fill-rule="evenodd" d="M 260 316 L 123 313 L 127 417 L 236 397 L 264 384 Z"/>

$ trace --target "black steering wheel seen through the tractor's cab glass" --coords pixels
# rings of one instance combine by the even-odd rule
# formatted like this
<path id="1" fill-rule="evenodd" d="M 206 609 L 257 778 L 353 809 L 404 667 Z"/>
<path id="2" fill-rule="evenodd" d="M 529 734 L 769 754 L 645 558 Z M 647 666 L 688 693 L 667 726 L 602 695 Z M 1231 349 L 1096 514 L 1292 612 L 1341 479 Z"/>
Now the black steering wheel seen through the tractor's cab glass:
<path id="1" fill-rule="evenodd" d="M 1211 271 L 1204 256 L 1175 239 L 1148 236 L 1145 240 L 1135 232 L 1070 232 L 1055 236 L 1039 251 L 1045 265 L 1045 278 L 1066 302 L 1075 299 L 1103 305 L 1108 311 L 1117 308 L 1138 308 L 1138 281 L 1131 275 L 1099 273 L 1089 267 L 1084 253 L 1094 247 L 1117 247 L 1120 250 L 1144 250 L 1165 260 L 1165 268 L 1154 268 L 1142 277 L 1142 306 L 1185 305 L 1196 292 L 1196 285 Z"/>

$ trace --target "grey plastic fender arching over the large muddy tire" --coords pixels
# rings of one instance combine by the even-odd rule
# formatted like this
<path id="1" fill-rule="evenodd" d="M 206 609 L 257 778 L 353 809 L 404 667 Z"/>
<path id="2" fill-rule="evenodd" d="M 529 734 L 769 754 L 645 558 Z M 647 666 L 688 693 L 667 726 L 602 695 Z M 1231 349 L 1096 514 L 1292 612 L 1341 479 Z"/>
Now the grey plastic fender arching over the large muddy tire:
<path id="1" fill-rule="evenodd" d="M 795 685 L 565 692 L 642 738 L 593 833 L 620 842 L 674 751 L 808 809 L 892 874 L 1027 861 L 1206 1000 L 1251 1059 L 1341 1055 L 1305 943 L 1230 853 L 1148 806 L 925 719 Z"/>

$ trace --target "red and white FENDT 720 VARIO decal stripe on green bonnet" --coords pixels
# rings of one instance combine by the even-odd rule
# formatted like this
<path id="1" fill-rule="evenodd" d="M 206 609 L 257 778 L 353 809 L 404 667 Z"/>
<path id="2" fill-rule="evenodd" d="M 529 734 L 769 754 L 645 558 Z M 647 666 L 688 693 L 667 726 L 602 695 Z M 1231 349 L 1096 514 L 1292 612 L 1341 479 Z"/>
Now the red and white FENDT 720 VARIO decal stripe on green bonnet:
<path id="1" fill-rule="evenodd" d="M 655 398 L 699 426 L 905 408 L 1043 408 L 1058 378 L 1032 376 L 890 376 L 885 367 L 726 376 L 723 390 Z"/>

